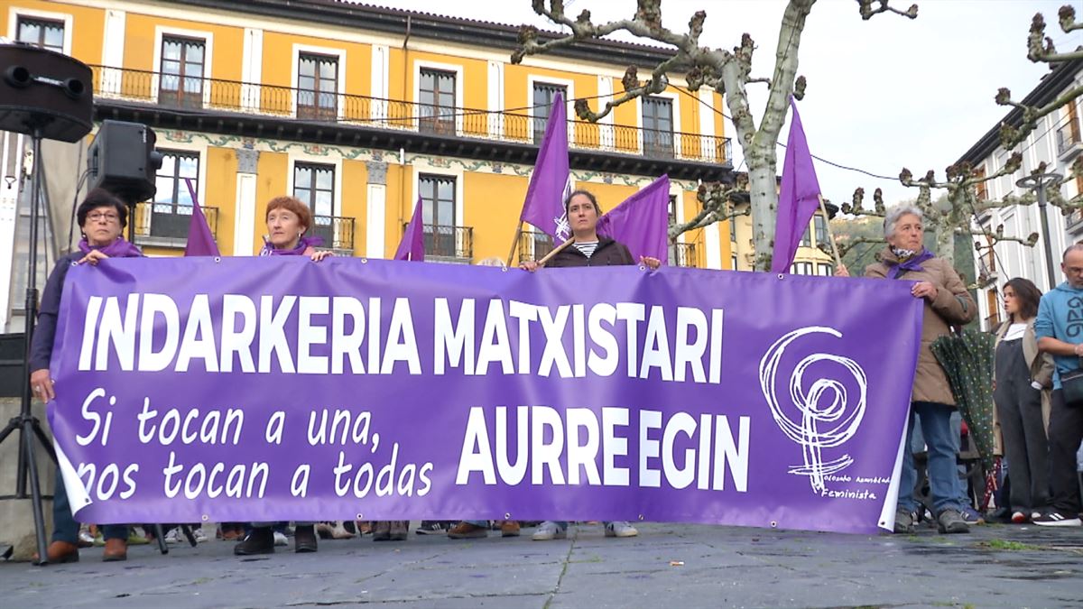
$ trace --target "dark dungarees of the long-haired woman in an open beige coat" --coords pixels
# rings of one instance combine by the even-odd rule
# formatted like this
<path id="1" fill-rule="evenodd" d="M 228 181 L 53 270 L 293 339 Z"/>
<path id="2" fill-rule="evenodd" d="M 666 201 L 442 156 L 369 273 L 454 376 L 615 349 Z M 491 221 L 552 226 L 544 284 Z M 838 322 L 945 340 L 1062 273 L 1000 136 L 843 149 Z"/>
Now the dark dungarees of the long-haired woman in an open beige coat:
<path id="1" fill-rule="evenodd" d="M 1002 342 L 997 349 L 993 402 L 1012 472 L 1012 509 L 1029 516 L 1049 503 L 1049 444 L 1042 420 L 1042 391 L 1030 386 L 1022 350 L 1014 342 L 1020 341 Z"/>

